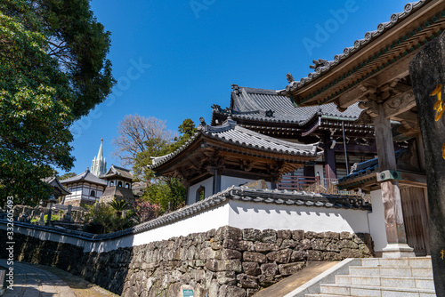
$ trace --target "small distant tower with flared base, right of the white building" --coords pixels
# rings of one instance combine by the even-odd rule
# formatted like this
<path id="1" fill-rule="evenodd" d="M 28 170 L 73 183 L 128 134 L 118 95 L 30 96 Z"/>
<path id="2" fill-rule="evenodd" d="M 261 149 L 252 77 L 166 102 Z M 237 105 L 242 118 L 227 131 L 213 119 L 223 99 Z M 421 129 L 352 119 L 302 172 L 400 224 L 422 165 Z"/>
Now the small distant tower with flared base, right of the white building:
<path id="1" fill-rule="evenodd" d="M 114 198 L 126 202 L 134 201 L 133 174 L 130 170 L 111 165 L 109 171 L 101 175 L 101 179 L 107 181 L 107 189 L 101 196 L 101 202 L 109 202 Z"/>

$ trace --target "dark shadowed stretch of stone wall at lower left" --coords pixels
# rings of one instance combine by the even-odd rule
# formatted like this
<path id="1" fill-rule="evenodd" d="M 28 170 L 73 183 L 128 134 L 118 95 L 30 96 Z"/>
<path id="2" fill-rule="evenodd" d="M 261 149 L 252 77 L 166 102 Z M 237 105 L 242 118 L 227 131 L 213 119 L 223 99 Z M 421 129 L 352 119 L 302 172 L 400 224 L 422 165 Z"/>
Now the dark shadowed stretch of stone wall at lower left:
<path id="1" fill-rule="evenodd" d="M 0 237 L 6 231 L 0 229 Z M 53 266 L 84 277 L 110 292 L 121 295 L 133 258 L 132 248 L 119 248 L 109 253 L 84 253 L 83 247 L 43 241 L 20 233 L 14 234 L 14 258 L 34 264 Z M 6 241 L 0 243 L 0 258 L 7 259 Z"/>

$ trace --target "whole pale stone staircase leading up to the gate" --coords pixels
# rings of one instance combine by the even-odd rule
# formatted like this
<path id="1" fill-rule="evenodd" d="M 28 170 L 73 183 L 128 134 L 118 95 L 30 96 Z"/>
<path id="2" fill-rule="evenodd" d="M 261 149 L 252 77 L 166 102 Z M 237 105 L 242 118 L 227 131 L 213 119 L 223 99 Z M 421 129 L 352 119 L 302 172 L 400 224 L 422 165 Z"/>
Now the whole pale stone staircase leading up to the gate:
<path id="1" fill-rule="evenodd" d="M 350 266 L 349 274 L 336 275 L 335 284 L 320 285 L 320 293 L 305 297 L 379 296 L 435 297 L 430 257 L 368 258 Z"/>

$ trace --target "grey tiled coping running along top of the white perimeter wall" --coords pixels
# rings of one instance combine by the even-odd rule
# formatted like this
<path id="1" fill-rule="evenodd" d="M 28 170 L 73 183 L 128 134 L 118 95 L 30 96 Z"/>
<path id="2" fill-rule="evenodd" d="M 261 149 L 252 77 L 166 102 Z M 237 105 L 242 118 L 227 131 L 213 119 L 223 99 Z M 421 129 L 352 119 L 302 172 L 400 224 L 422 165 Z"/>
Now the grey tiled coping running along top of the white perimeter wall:
<path id="1" fill-rule="evenodd" d="M 56 234 L 69 234 L 71 237 L 78 237 L 90 241 L 100 241 L 104 239 L 112 239 L 117 237 L 123 237 L 125 235 L 138 234 L 150 229 L 157 229 L 159 227 L 171 224 L 174 221 L 186 219 L 197 213 L 206 211 L 213 208 L 215 205 L 221 205 L 229 200 L 235 200 L 240 202 L 250 203 L 263 203 L 269 205 L 295 205 L 302 207 L 319 207 L 321 208 L 343 208 L 357 211 L 369 211 L 372 209 L 372 205 L 365 202 L 358 197 L 344 197 L 333 196 L 326 194 L 316 194 L 309 192 L 297 192 L 286 190 L 269 190 L 269 189 L 248 189 L 244 187 L 235 187 L 224 189 L 223 191 L 214 194 L 211 197 L 207 197 L 193 205 L 185 206 L 172 213 L 166 213 L 165 215 L 158 217 L 155 220 L 147 221 L 133 228 L 124 229 L 109 234 L 91 234 L 87 232 L 71 230 L 71 229 L 58 229 L 48 226 L 30 225 L 21 222 L 14 222 L 17 225 L 39 229 Z M 2 223 L 6 223 L 5 220 L 0 220 Z"/>

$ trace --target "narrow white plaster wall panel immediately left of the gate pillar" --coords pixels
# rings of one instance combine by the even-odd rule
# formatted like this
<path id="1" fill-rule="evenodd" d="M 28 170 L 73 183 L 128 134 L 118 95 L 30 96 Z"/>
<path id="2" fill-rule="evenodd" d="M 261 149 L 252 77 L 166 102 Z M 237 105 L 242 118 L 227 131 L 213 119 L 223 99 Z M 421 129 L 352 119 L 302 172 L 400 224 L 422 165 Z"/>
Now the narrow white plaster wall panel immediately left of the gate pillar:
<path id="1" fill-rule="evenodd" d="M 386 228 L 384 226 L 384 202 L 382 200 L 382 190 L 377 189 L 371 192 L 372 213 L 368 214 L 369 229 L 374 240 L 374 251 L 382 252 L 388 245 L 386 240 Z"/>

